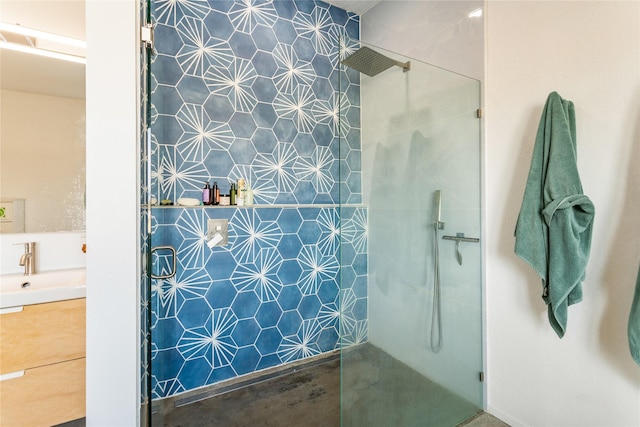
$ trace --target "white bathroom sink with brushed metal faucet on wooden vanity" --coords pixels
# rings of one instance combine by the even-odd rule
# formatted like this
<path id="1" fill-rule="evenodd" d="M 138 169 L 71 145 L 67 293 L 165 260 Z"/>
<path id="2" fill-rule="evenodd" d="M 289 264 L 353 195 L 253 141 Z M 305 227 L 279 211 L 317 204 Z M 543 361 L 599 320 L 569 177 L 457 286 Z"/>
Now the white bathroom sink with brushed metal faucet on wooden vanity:
<path id="1" fill-rule="evenodd" d="M 84 268 L 46 271 L 31 276 L 1 275 L 0 309 L 84 298 L 86 285 Z"/>

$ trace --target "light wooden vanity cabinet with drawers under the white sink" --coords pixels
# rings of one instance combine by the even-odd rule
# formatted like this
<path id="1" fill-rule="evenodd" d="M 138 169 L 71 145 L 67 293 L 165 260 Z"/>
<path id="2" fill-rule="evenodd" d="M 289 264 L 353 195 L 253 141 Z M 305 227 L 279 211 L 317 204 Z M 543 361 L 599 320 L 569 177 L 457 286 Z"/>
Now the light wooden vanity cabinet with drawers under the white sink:
<path id="1" fill-rule="evenodd" d="M 0 314 L 0 425 L 85 416 L 85 299 Z"/>

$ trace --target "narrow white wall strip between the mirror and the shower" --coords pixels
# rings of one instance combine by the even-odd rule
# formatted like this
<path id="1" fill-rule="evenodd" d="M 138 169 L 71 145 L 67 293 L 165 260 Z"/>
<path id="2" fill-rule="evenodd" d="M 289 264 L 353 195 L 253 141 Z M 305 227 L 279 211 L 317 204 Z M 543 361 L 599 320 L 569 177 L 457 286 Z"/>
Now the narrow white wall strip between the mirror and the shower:
<path id="1" fill-rule="evenodd" d="M 87 425 L 129 427 L 140 403 L 138 2 L 86 11 Z"/>

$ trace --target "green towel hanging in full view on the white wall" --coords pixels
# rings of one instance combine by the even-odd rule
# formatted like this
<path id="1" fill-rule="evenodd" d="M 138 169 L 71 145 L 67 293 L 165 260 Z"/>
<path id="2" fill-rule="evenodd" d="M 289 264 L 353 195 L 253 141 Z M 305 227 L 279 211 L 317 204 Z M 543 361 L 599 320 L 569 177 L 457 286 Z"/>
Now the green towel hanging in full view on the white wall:
<path id="1" fill-rule="evenodd" d="M 568 307 L 582 301 L 594 207 L 582 194 L 571 101 L 549 94 L 516 224 L 516 254 L 542 278 L 551 327 L 562 338 Z"/>

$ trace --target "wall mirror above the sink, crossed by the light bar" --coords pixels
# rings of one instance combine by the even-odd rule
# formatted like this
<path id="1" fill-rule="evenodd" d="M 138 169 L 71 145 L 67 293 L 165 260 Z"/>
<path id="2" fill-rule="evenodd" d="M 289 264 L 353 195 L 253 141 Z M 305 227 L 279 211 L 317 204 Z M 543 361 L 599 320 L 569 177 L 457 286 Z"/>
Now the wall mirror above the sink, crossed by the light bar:
<path id="1" fill-rule="evenodd" d="M 0 21 L 85 39 L 84 0 L 3 0 Z M 0 85 L 0 208 L 18 215 L 0 232 L 84 230 L 85 65 L 3 48 Z"/>

